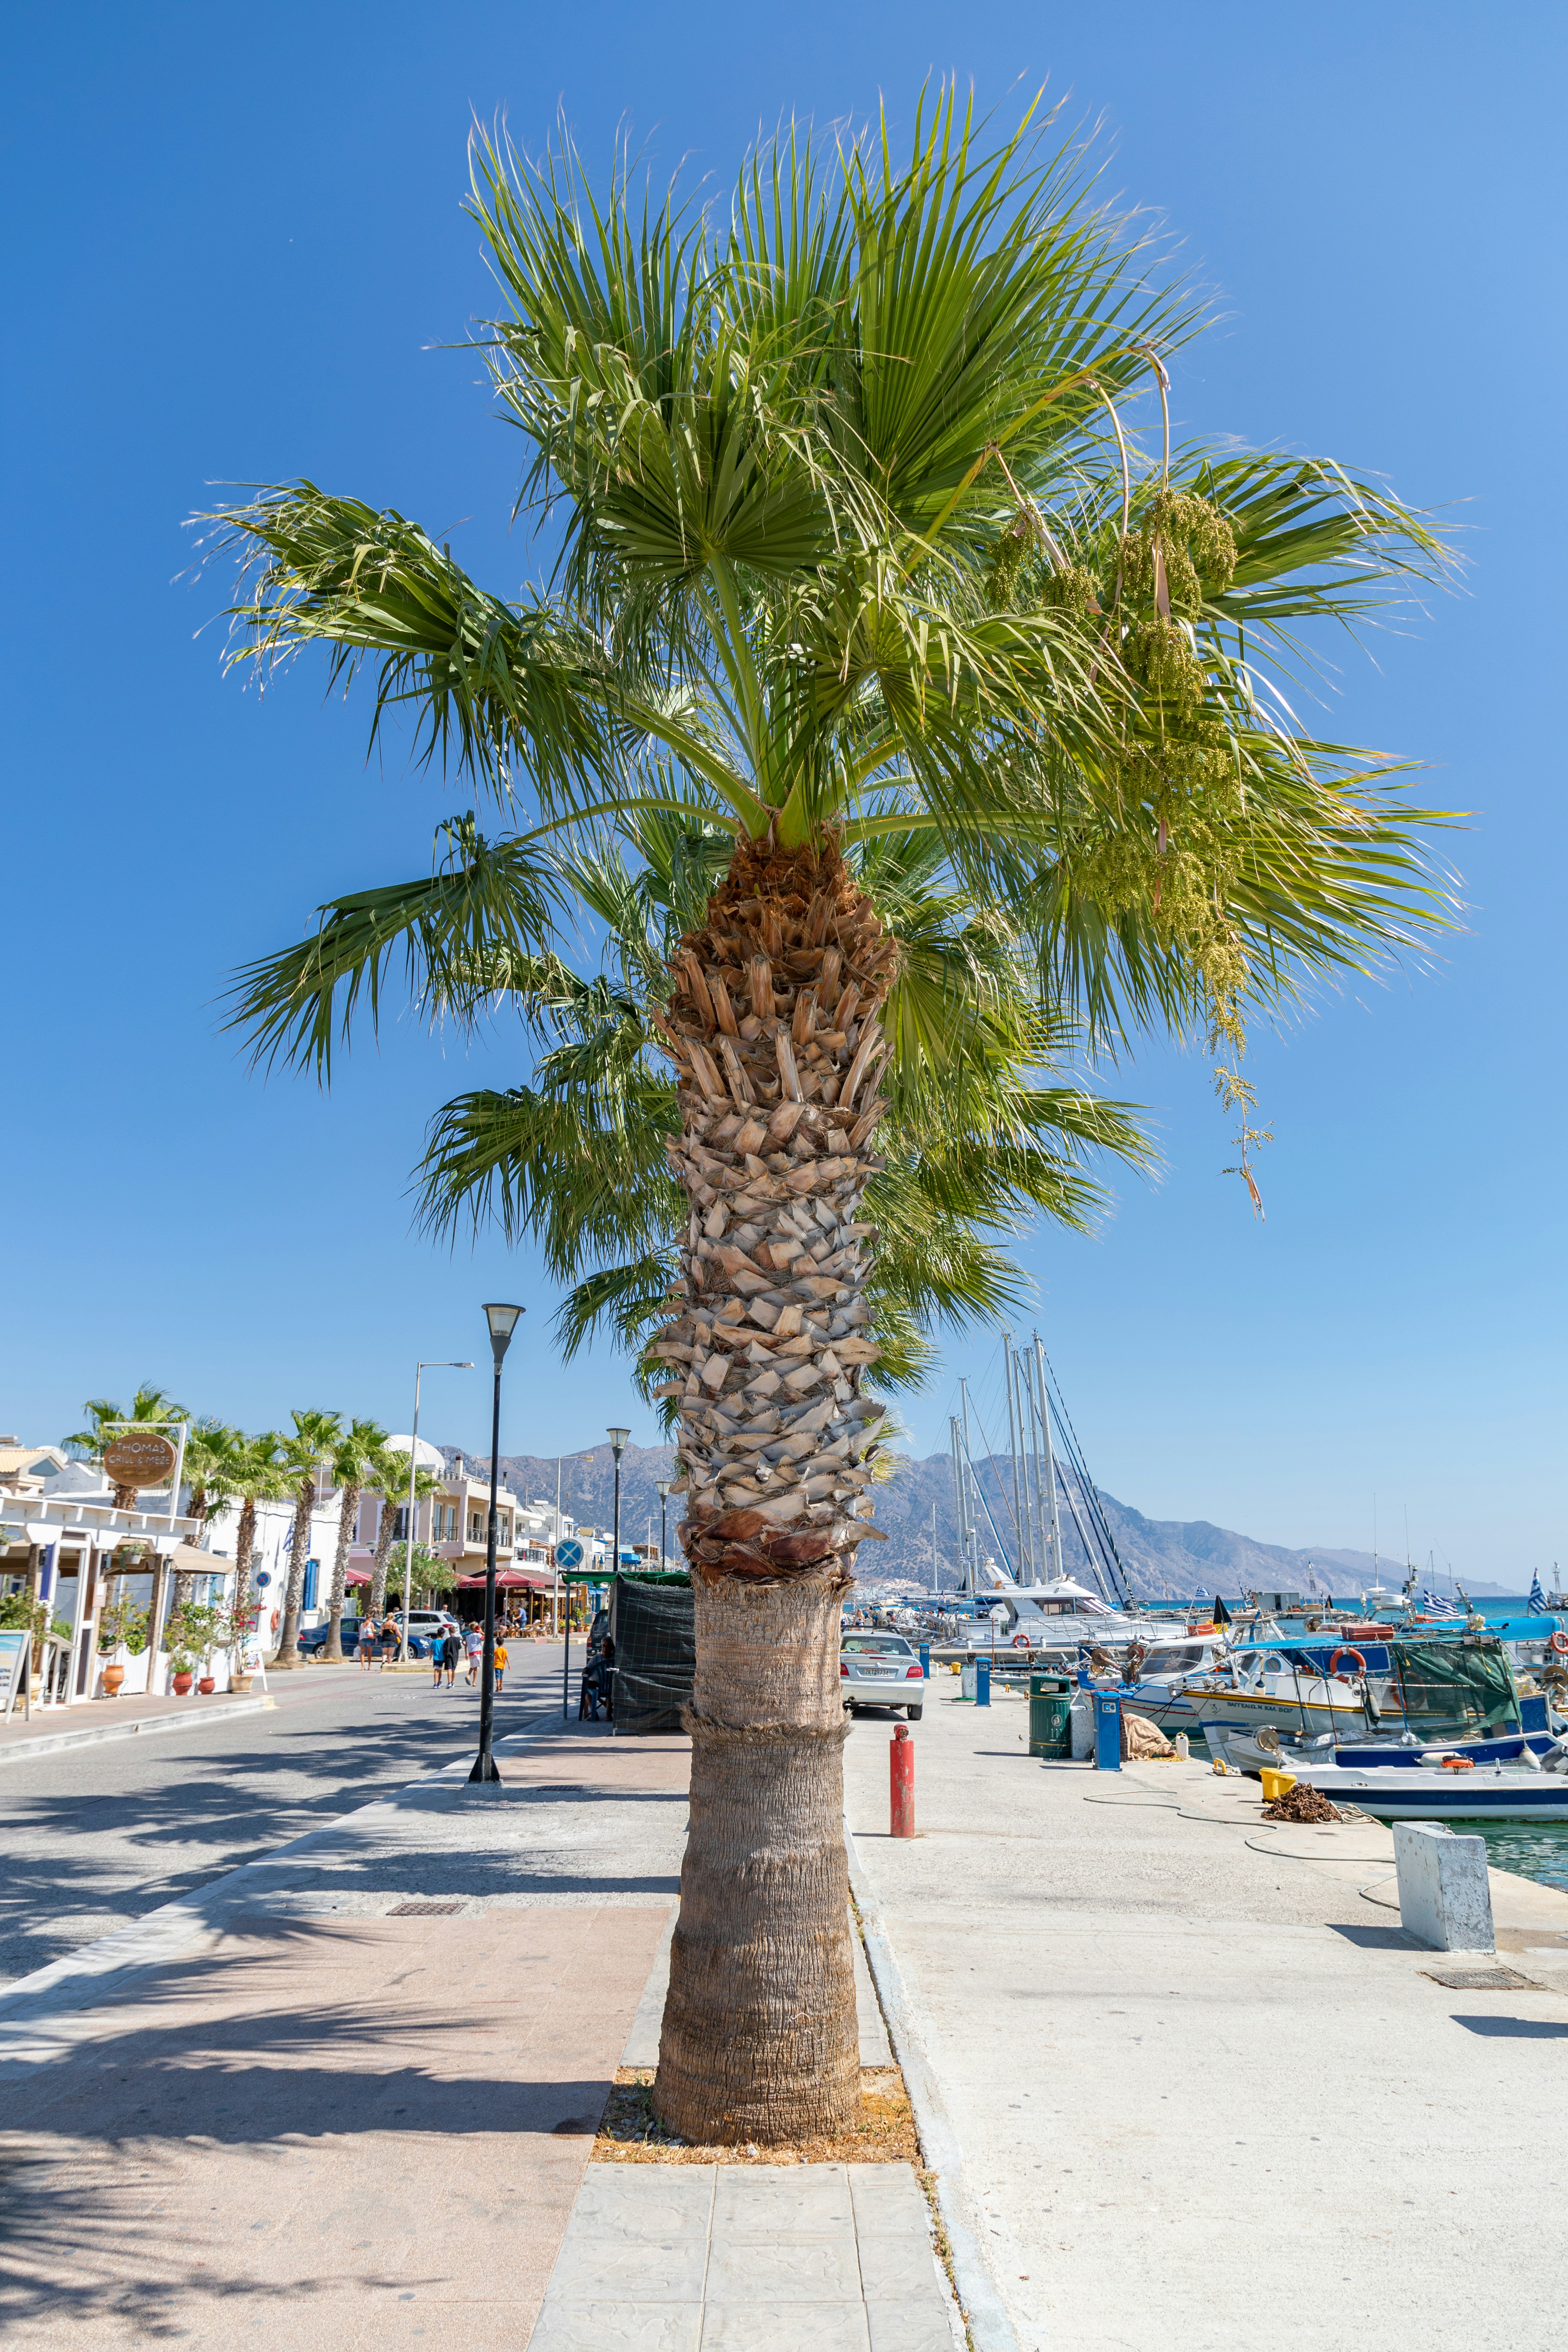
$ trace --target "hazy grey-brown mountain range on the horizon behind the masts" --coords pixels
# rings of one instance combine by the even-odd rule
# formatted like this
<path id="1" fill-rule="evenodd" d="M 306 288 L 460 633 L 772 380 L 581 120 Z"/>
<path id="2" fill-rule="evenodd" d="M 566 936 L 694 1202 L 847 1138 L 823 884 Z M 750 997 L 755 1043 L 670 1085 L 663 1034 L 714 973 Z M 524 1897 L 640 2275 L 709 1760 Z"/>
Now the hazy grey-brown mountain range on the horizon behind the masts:
<path id="1" fill-rule="evenodd" d="M 449 1461 L 456 1456 L 454 1446 L 444 1446 L 442 1451 Z M 468 1463 L 473 1470 L 489 1468 L 489 1463 L 480 1465 L 473 1454 L 468 1456 Z M 945 1454 L 931 1454 L 926 1461 L 912 1461 L 907 1454 L 896 1454 L 893 1463 L 893 1477 L 884 1486 L 877 1486 L 877 1526 L 886 1531 L 889 1541 L 865 1545 L 860 1550 L 860 1573 L 872 1583 L 882 1583 L 884 1578 L 912 1578 L 919 1585 L 931 1585 L 931 1538 L 936 1512 L 936 1566 L 940 1583 L 952 1590 L 957 1562 L 952 1465 Z M 503 1454 L 501 1475 L 512 1494 L 522 1496 L 524 1503 L 536 1498 L 555 1503 L 557 1463 L 552 1454 Z M 649 1531 L 654 1543 L 658 1543 L 658 1494 L 654 1486 L 658 1479 L 672 1479 L 675 1475 L 675 1456 L 670 1446 L 625 1449 L 621 1458 L 623 1543 L 644 1543 Z M 1006 1456 L 992 1456 L 976 1463 L 976 1475 L 997 1529 L 997 1534 L 992 1534 L 983 1517 L 983 1548 L 997 1559 L 1004 1559 L 1011 1555 L 1013 1531 L 1011 1465 Z M 564 1454 L 559 1461 L 559 1479 L 562 1510 L 574 1519 L 585 1519 L 590 1526 L 609 1529 L 614 1508 L 614 1456 L 609 1446 L 599 1444 L 588 1454 Z M 1293 1552 L 1281 1543 L 1260 1543 L 1255 1536 L 1237 1536 L 1229 1526 L 1213 1526 L 1208 1519 L 1147 1519 L 1140 1510 L 1133 1510 L 1131 1503 L 1119 1503 L 1114 1494 L 1105 1494 L 1105 1489 L 1098 1489 L 1098 1494 L 1100 1510 L 1110 1522 L 1110 1531 L 1121 1557 L 1121 1566 L 1140 1599 L 1192 1599 L 1199 1592 L 1225 1592 L 1227 1597 L 1234 1597 L 1244 1588 L 1307 1592 L 1309 1573 L 1316 1573 L 1321 1588 L 1338 1590 L 1342 1595 L 1363 1590 L 1378 1576 L 1385 1585 L 1401 1581 L 1392 1559 L 1373 1559 L 1371 1552 L 1342 1550 L 1331 1543 Z M 1063 1564 L 1070 1576 L 1081 1578 L 1093 1562 L 1086 1555 L 1074 1524 L 1070 1496 L 1077 1501 L 1079 1515 L 1086 1519 L 1084 1498 L 1072 1489 L 1063 1472 Z M 679 1548 L 675 1529 L 679 1526 L 679 1519 L 682 1496 L 672 1494 L 670 1552 L 677 1557 Z M 1472 1583 L 1467 1590 L 1476 1595 L 1495 1595 L 1507 1592 L 1509 1588 Z"/>

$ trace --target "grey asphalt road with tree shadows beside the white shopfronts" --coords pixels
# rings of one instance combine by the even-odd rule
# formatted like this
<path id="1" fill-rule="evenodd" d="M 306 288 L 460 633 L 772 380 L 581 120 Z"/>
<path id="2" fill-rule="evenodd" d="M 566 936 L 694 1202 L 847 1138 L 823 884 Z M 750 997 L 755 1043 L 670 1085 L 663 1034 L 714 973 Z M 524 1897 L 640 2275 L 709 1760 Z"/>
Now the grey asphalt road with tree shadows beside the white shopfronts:
<path id="1" fill-rule="evenodd" d="M 559 1649 L 517 1642 L 512 1661 L 496 1738 L 559 1715 Z M 0 1764 L 0 1985 L 477 1745 L 461 1672 L 433 1691 L 423 1675 L 310 1665 L 275 1675 L 270 1696 L 263 1715 Z"/>

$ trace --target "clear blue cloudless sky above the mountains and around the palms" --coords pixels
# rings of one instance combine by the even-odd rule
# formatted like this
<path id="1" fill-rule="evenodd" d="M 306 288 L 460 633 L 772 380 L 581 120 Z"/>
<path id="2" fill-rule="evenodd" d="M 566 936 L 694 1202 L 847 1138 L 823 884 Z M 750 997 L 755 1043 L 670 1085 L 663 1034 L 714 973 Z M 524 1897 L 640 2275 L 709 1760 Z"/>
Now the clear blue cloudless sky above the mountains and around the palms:
<path id="1" fill-rule="evenodd" d="M 559 101 L 590 158 L 625 120 L 661 174 L 724 181 L 785 111 L 863 118 L 882 92 L 907 122 L 926 73 L 997 106 L 1048 78 L 1215 289 L 1178 416 L 1465 501 L 1472 564 L 1375 663 L 1347 654 L 1333 717 L 1476 811 L 1453 844 L 1469 929 L 1258 1040 L 1267 1225 L 1218 1174 L 1201 1058 L 1121 1073 L 1164 1181 L 1124 1185 L 1095 1242 L 1030 1244 L 1079 1432 L 1159 1517 L 1368 1545 L 1375 1494 L 1392 1550 L 1408 1505 L 1422 1559 L 1509 1581 L 1568 1557 L 1566 35 L 1561 7 L 1453 0 L 12 9 L 0 1428 L 59 1437 L 141 1376 L 252 1428 L 294 1404 L 407 1428 L 414 1357 L 482 1355 L 498 1294 L 529 1303 L 508 1449 L 651 1435 L 614 1357 L 555 1362 L 527 1256 L 411 1232 L 423 1122 L 503 1080 L 501 1044 L 393 1025 L 322 1098 L 219 1035 L 235 962 L 423 868 L 437 793 L 367 769 L 364 713 L 324 706 L 320 670 L 263 703 L 221 680 L 181 517 L 209 482 L 308 473 L 451 532 L 503 590 L 529 574 L 517 442 L 440 348 L 487 306 L 470 113 L 538 146 Z M 990 1352 L 907 1409 L 919 1451 Z M 425 1428 L 484 1446 L 482 1374 L 440 1378 Z"/>

